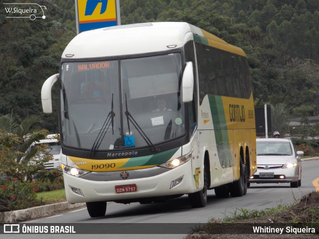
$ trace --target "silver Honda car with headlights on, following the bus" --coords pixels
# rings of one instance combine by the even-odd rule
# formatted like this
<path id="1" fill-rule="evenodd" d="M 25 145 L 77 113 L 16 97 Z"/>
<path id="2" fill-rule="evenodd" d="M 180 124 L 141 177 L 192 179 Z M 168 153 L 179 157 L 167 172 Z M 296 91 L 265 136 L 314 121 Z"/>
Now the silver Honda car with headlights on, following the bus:
<path id="1" fill-rule="evenodd" d="M 303 151 L 296 151 L 286 138 L 257 138 L 257 172 L 250 183 L 290 183 L 301 186 L 301 159 Z"/>

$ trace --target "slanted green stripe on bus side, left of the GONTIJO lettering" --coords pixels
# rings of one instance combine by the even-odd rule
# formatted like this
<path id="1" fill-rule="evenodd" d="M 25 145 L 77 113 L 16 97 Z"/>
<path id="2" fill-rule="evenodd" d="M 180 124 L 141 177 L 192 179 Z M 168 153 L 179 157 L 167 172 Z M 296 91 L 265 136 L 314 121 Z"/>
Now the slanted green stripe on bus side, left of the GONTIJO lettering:
<path id="1" fill-rule="evenodd" d="M 220 96 L 208 95 L 210 112 L 213 119 L 216 146 L 220 164 L 228 168 L 232 156 L 229 146 L 228 130 L 223 101 Z M 232 164 L 232 163 L 231 163 Z"/>

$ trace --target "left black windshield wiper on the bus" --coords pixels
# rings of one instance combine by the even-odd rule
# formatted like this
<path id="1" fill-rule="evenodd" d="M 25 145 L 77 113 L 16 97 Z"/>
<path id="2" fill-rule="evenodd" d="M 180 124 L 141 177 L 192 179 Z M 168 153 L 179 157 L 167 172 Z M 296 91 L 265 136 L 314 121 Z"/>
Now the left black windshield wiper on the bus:
<path id="1" fill-rule="evenodd" d="M 112 103 L 111 103 L 111 111 L 109 112 L 108 116 L 106 117 L 99 133 L 98 133 L 98 136 L 96 137 L 94 143 L 93 143 L 93 146 L 90 150 L 90 156 L 94 156 L 95 155 L 95 152 L 96 150 L 100 147 L 103 139 L 104 139 L 104 136 L 105 134 L 107 133 L 110 125 L 112 124 L 112 134 L 114 134 L 114 117 L 115 117 L 115 114 L 113 112 L 113 93 L 112 93 Z"/>

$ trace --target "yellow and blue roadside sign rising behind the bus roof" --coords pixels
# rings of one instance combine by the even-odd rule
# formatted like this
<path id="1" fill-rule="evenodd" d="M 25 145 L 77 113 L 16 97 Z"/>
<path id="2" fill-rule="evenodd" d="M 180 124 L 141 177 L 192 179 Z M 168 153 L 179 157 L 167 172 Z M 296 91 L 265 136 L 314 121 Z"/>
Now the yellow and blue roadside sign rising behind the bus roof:
<path id="1" fill-rule="evenodd" d="M 117 25 L 116 0 L 77 0 L 79 32 Z"/>

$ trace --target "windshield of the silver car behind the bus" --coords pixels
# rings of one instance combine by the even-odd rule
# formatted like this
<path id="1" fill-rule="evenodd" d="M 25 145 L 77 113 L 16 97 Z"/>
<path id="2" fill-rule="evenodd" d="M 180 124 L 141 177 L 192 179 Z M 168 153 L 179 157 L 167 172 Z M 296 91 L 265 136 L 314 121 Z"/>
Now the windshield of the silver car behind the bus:
<path id="1" fill-rule="evenodd" d="M 257 155 L 292 155 L 292 148 L 289 142 L 283 141 L 257 141 Z"/>

